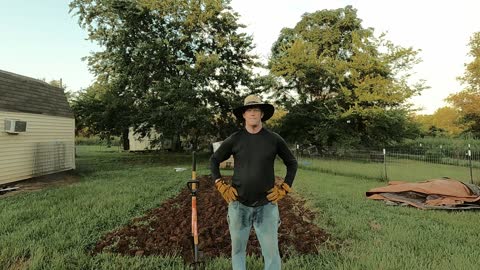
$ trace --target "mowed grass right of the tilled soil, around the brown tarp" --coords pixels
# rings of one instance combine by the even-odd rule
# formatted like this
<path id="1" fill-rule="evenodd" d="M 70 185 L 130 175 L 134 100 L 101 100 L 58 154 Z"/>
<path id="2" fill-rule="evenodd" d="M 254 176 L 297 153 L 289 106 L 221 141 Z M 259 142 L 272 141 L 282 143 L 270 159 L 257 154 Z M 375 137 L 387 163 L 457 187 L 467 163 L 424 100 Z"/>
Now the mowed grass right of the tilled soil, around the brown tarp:
<path id="1" fill-rule="evenodd" d="M 300 170 L 294 187 L 339 239 L 321 269 L 478 269 L 479 212 L 425 211 L 365 198 L 384 183 Z M 319 268 L 320 269 L 320 268 Z"/>

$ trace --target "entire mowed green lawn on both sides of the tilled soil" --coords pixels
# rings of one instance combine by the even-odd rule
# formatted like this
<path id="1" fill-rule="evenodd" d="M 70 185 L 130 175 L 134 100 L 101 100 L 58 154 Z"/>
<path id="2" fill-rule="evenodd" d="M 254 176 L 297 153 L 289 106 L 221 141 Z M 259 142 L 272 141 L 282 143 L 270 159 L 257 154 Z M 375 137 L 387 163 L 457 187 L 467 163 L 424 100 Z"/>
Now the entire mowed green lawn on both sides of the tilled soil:
<path id="1" fill-rule="evenodd" d="M 105 233 L 175 196 L 190 178 L 190 156 L 81 146 L 77 164 L 75 184 L 0 198 L 0 269 L 184 268 L 178 257 L 90 252 Z M 176 167 L 187 170 L 175 172 Z M 198 174 L 207 174 L 207 167 L 204 156 Z M 283 269 L 478 268 L 478 212 L 422 211 L 367 200 L 365 191 L 384 183 L 355 176 L 361 169 L 350 166 L 352 176 L 310 167 L 298 171 L 294 196 L 307 200 L 332 240 L 319 246 L 317 255 L 284 261 Z M 247 266 L 263 269 L 262 259 L 248 258 Z M 206 268 L 229 269 L 229 258 L 208 260 Z"/>

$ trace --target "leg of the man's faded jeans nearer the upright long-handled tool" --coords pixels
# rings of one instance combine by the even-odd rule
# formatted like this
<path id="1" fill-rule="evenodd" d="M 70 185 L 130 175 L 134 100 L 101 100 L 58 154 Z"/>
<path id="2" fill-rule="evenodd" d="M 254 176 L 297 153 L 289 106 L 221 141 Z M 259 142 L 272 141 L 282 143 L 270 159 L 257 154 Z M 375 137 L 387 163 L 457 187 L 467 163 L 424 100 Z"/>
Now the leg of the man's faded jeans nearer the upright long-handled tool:
<path id="1" fill-rule="evenodd" d="M 232 239 L 232 267 L 233 270 L 246 269 L 246 250 L 248 236 L 252 228 L 253 208 L 247 207 L 238 201 L 228 205 L 228 228 Z"/>

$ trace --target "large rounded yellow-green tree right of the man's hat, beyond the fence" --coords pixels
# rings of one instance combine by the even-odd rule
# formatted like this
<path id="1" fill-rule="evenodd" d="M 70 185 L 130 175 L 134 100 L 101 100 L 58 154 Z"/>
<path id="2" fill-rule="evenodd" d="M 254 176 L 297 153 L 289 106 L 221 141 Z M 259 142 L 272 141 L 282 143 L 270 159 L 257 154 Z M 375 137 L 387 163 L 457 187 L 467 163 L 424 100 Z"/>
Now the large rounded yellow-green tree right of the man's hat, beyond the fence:
<path id="1" fill-rule="evenodd" d="M 304 14 L 294 28 L 281 31 L 269 59 L 271 72 L 285 81 L 275 96 L 289 114 L 300 114 L 287 116 L 285 124 L 308 111 L 315 121 L 301 121 L 298 128 L 318 146 L 401 140 L 397 134 L 411 131 L 406 100 L 425 88 L 423 81 L 408 81 L 420 61 L 417 53 L 375 37 L 351 6 Z M 287 138 L 298 138 L 285 131 Z"/>

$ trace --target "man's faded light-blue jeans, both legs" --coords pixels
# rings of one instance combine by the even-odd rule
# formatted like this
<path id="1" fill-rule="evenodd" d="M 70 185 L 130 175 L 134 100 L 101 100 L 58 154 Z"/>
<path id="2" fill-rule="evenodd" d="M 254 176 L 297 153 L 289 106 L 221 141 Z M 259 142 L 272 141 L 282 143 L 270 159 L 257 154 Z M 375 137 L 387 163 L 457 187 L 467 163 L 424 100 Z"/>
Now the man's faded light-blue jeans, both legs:
<path id="1" fill-rule="evenodd" d="M 234 201 L 228 205 L 227 220 L 232 239 L 233 270 L 246 269 L 247 242 L 252 225 L 262 248 L 265 270 L 280 269 L 281 259 L 278 251 L 280 215 L 277 204 L 249 207 Z"/>

